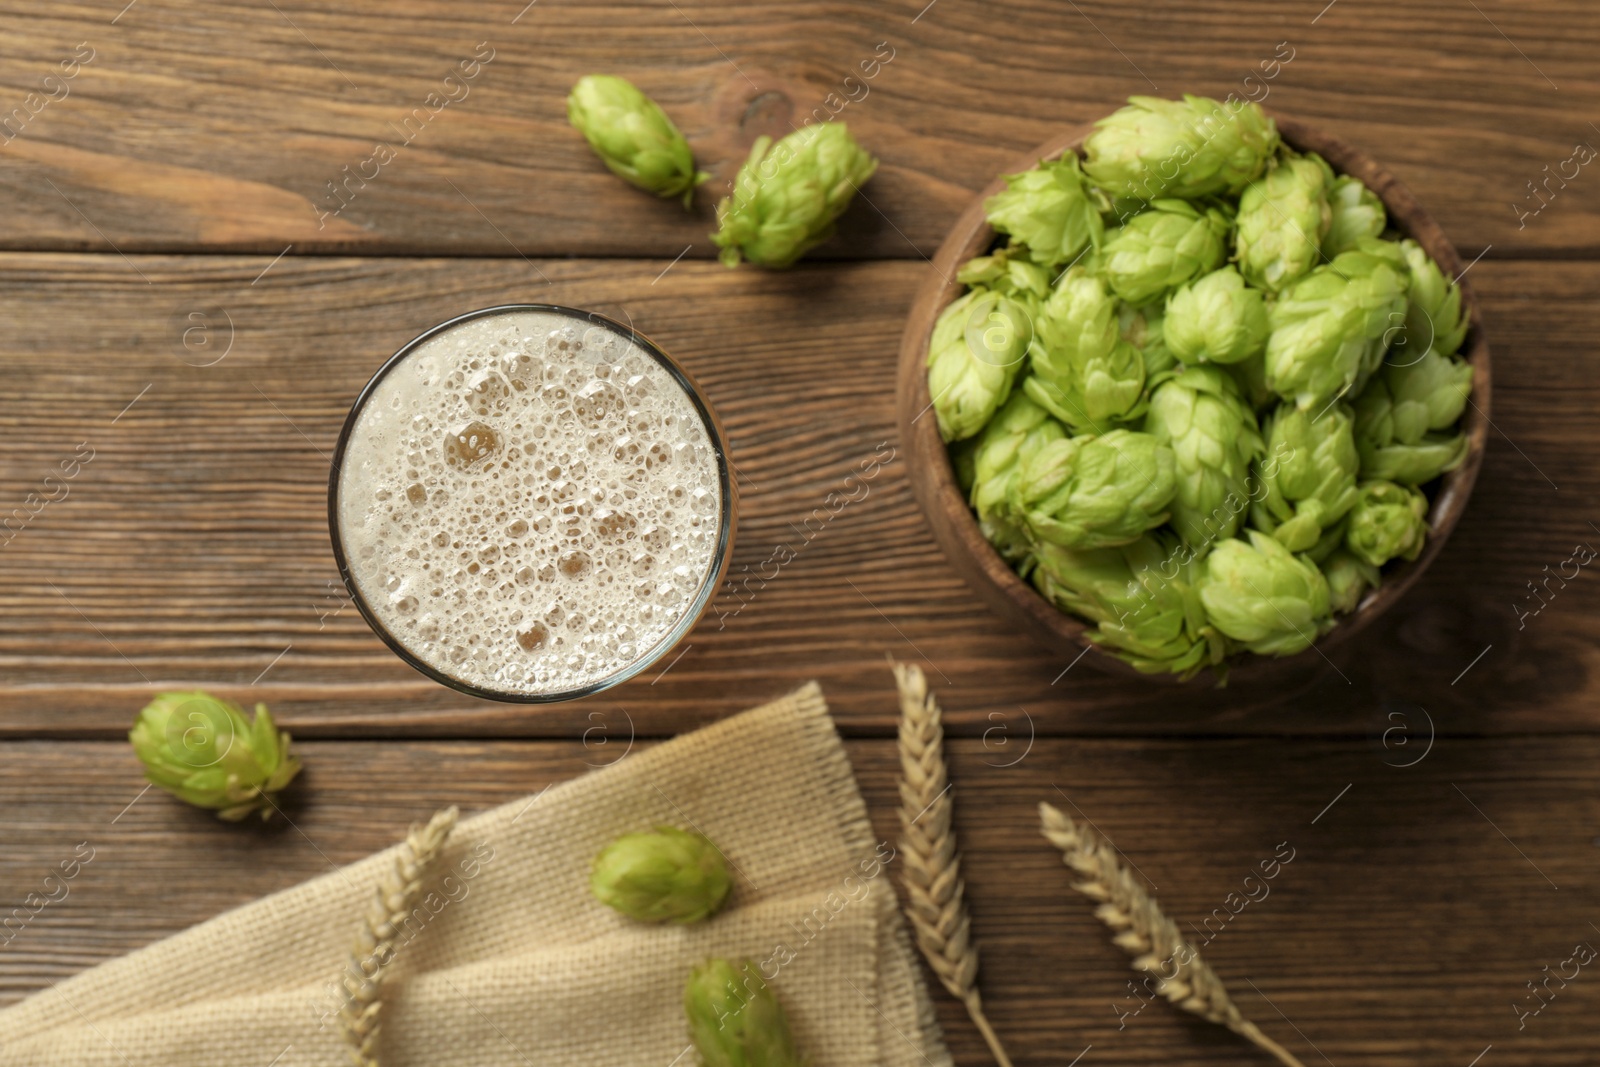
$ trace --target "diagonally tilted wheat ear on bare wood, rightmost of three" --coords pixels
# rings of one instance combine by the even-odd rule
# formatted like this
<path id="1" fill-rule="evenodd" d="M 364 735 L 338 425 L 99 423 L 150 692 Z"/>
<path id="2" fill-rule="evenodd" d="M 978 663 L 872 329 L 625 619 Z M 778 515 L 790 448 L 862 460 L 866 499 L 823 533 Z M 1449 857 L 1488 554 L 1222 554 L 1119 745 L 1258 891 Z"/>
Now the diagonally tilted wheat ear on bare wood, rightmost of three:
<path id="1" fill-rule="evenodd" d="M 1050 805 L 1038 805 L 1038 817 L 1045 837 L 1061 849 L 1062 862 L 1083 878 L 1072 888 L 1099 901 L 1094 917 L 1115 931 L 1112 941 L 1133 957 L 1133 969 L 1155 977 L 1155 992 L 1184 1011 L 1226 1025 L 1286 1067 L 1304 1067 L 1238 1011 L 1222 979 L 1184 941 L 1155 897 L 1134 881 L 1109 841 Z"/>

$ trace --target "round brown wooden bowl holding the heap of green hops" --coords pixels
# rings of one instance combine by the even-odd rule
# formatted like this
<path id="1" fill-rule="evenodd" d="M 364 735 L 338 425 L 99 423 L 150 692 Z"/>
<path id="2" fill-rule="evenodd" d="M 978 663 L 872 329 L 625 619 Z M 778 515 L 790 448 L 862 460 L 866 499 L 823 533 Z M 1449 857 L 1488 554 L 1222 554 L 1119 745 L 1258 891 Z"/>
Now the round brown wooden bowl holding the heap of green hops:
<path id="1" fill-rule="evenodd" d="M 1366 184 L 1384 202 L 1389 211 L 1389 224 L 1406 237 L 1414 238 L 1427 254 L 1448 275 L 1459 275 L 1462 270 L 1461 256 L 1445 237 L 1443 230 L 1418 205 L 1410 190 L 1384 170 L 1376 160 L 1349 144 L 1314 130 L 1304 123 L 1274 115 L 1283 141 L 1294 149 L 1320 154 L 1333 170 L 1342 174 L 1354 174 Z M 1078 150 L 1093 126 L 1080 126 L 1046 141 L 1027 155 L 1019 157 L 1002 173 L 1029 170 L 1038 160 L 1059 155 L 1064 150 Z M 1064 662 L 1080 656 L 1094 667 L 1122 675 L 1150 678 L 1157 681 L 1176 683 L 1174 675 L 1139 673 L 1122 659 L 1117 659 L 1088 640 L 1088 625 L 1080 619 L 1058 609 L 1030 584 L 1018 577 L 1016 571 L 1000 558 L 1000 553 L 984 539 L 978 530 L 978 520 L 966 506 L 960 486 L 955 483 L 955 470 L 950 466 L 944 442 L 939 438 L 938 421 L 931 414 L 928 397 L 928 338 L 939 312 L 954 301 L 963 290 L 955 282 L 957 269 L 973 256 L 987 251 L 995 240 L 995 232 L 984 221 L 984 200 L 1000 192 L 1005 186 L 1002 178 L 995 178 L 987 189 L 962 213 L 950 235 L 939 246 L 933 258 L 933 272 L 917 294 L 912 306 L 910 320 L 901 339 L 899 354 L 899 398 L 898 419 L 901 442 L 907 450 L 907 466 L 910 467 L 912 490 L 922 506 L 933 534 L 944 549 L 957 571 L 998 614 L 1014 625 L 1034 635 L 1045 648 L 1059 653 Z M 1483 462 L 1483 448 L 1488 442 L 1490 427 L 1490 346 L 1483 338 L 1483 320 L 1472 286 L 1461 282 L 1461 301 L 1467 310 L 1470 328 L 1461 346 L 1459 355 L 1472 363 L 1472 403 L 1464 416 L 1467 434 L 1467 458 L 1459 467 L 1443 475 L 1429 510 L 1430 536 L 1422 553 L 1410 563 L 1390 565 L 1384 568 L 1384 582 L 1376 592 L 1370 592 L 1357 609 L 1339 619 L 1339 624 L 1325 633 L 1312 648 L 1294 656 L 1269 657 L 1240 654 L 1229 661 L 1229 681 L 1269 681 L 1277 683 L 1291 673 L 1304 673 L 1328 662 L 1328 653 L 1347 641 L 1373 619 L 1389 609 L 1406 589 L 1416 582 L 1418 576 L 1427 569 L 1438 550 L 1445 545 L 1456 520 L 1466 510 L 1472 483 L 1478 477 Z M 1085 649 L 1088 649 L 1085 653 Z M 1206 678 L 1205 673 L 1200 678 Z M 1210 685 L 1202 681 L 1202 685 Z"/>

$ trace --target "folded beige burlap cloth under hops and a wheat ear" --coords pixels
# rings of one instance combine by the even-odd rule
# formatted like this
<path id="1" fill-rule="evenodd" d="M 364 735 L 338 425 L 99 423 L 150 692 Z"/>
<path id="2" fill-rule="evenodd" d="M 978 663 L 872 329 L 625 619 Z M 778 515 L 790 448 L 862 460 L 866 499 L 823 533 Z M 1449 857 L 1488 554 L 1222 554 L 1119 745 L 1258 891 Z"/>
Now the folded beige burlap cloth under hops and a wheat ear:
<path id="1" fill-rule="evenodd" d="M 595 853 L 656 824 L 699 827 L 736 865 L 714 920 L 643 926 L 589 896 Z M 336 981 L 392 854 L 0 1013 L 0 1064 L 344 1064 Z M 742 955 L 776 974 L 813 1067 L 947 1067 L 891 856 L 816 685 L 486 811 L 456 829 L 394 961 L 384 1065 L 688 1067 L 690 966 Z"/>

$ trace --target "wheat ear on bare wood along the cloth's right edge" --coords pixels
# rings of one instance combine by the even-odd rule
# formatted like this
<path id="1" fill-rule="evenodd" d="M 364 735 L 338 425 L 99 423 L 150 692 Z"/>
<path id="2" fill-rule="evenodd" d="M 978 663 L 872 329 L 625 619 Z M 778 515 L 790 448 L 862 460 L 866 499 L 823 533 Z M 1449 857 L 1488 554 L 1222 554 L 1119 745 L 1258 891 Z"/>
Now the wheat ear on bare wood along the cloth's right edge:
<path id="1" fill-rule="evenodd" d="M 950 827 L 950 779 L 944 766 L 944 725 L 922 669 L 894 664 L 901 723 L 901 885 L 917 947 L 952 997 L 966 1005 L 995 1062 L 1011 1067 L 978 995 L 978 945 L 962 885 L 962 857 Z"/>

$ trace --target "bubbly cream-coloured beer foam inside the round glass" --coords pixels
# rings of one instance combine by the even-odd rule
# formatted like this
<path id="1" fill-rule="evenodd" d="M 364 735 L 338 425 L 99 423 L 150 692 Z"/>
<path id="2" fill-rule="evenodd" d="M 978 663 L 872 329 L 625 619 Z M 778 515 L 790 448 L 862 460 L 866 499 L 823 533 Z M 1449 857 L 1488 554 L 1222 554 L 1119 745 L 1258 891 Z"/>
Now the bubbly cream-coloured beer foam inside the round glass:
<path id="1" fill-rule="evenodd" d="M 429 338 L 350 427 L 339 537 L 416 659 L 507 694 L 653 659 L 718 560 L 717 451 L 648 350 L 557 312 Z"/>

